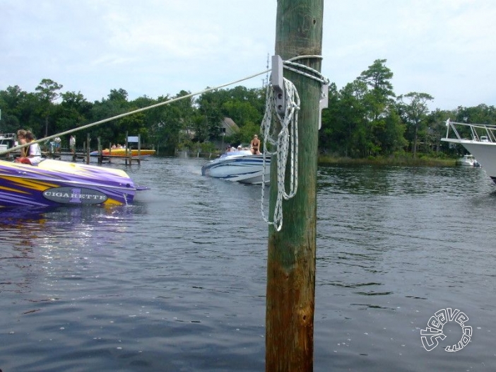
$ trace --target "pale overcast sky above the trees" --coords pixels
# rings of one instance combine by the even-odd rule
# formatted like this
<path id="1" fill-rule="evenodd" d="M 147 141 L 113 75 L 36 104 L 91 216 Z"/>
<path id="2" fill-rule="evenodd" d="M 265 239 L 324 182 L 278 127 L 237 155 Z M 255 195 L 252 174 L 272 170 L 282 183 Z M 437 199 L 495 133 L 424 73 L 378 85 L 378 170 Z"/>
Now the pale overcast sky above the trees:
<path id="1" fill-rule="evenodd" d="M 89 101 L 242 79 L 274 54 L 276 0 L 0 0 L 0 90 L 42 79 Z M 495 0 L 324 0 L 322 73 L 339 89 L 386 59 L 397 95 L 496 105 Z M 244 83 L 261 87 L 265 76 Z"/>

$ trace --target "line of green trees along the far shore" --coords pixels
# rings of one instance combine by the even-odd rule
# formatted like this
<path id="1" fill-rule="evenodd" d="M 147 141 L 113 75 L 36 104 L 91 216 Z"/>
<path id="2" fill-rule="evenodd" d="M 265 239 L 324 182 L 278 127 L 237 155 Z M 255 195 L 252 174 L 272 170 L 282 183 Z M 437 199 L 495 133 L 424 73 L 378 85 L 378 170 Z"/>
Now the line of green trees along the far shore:
<path id="1" fill-rule="evenodd" d="M 429 110 L 434 98 L 428 93 L 396 95 L 391 84 L 393 72 L 386 59 L 377 59 L 354 81 L 338 90 L 329 86 L 329 107 L 322 112 L 319 150 L 333 156 L 370 158 L 378 156 L 444 157 L 453 154 L 440 141 L 446 133 L 444 122 L 496 124 L 494 106 L 457 107 L 454 110 Z M 0 132 L 30 129 L 37 138 L 82 127 L 85 124 L 138 110 L 173 98 L 189 95 L 149 98 L 143 95 L 129 100 L 122 89 L 112 89 L 107 98 L 93 103 L 81 92 L 61 92 L 63 86 L 42 79 L 35 92 L 19 86 L 0 91 Z M 143 146 L 160 146 L 162 153 L 173 155 L 177 149 L 213 151 L 215 143 L 248 143 L 264 117 L 265 88 L 236 86 L 202 93 L 197 97 L 175 100 L 151 110 L 112 120 L 76 133 L 90 134 L 102 144 L 124 143 L 126 133 L 141 136 Z M 240 132 L 223 137 L 221 122 L 230 117 Z M 63 139 L 62 146 L 69 139 Z M 95 144 L 93 144 L 95 147 Z"/>

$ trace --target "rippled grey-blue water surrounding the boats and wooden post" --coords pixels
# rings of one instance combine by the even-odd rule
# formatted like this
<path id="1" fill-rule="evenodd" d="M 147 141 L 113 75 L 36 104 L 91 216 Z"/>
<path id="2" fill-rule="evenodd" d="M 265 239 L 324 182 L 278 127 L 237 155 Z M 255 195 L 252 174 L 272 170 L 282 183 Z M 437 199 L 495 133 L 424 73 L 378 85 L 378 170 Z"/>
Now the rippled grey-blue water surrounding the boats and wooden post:
<path id="1" fill-rule="evenodd" d="M 259 187 L 127 168 L 132 207 L 0 212 L 0 368 L 264 371 Z M 114 165 L 124 168 L 124 165 Z M 495 371 L 496 186 L 477 168 L 319 168 L 315 371 Z M 437 310 L 468 315 L 426 351 Z"/>

